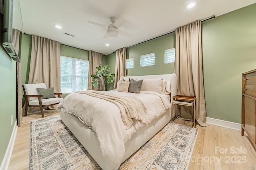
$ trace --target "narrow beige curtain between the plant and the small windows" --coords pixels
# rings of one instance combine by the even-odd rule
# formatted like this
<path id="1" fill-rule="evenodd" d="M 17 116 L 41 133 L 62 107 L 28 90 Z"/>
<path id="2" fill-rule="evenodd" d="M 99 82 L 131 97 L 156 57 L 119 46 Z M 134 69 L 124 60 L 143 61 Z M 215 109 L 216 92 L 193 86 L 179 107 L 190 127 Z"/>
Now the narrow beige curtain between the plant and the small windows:
<path id="1" fill-rule="evenodd" d="M 125 60 L 126 60 L 126 47 L 116 50 L 114 89 L 116 89 L 117 82 L 120 80 L 120 78 L 122 76 L 126 76 Z"/>

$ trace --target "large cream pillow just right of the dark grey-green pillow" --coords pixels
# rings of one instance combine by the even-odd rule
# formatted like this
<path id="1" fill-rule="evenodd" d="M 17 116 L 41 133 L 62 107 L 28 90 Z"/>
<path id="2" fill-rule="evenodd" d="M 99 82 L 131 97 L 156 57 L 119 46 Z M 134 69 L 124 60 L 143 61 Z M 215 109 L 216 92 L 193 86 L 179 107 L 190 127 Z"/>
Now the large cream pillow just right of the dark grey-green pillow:
<path id="1" fill-rule="evenodd" d="M 162 93 L 162 78 L 143 79 L 140 91 Z"/>

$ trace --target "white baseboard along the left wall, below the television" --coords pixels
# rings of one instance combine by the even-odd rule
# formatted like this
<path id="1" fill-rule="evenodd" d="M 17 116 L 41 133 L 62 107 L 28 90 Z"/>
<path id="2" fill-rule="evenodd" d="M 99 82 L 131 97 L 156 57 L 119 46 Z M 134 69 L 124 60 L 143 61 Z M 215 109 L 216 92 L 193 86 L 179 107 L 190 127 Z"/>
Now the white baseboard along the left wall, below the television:
<path id="1" fill-rule="evenodd" d="M 3 160 L 3 162 L 0 166 L 0 170 L 7 170 L 8 169 L 8 166 L 9 166 L 9 163 L 10 163 L 10 160 L 11 160 L 11 156 L 12 156 L 12 149 L 13 149 L 13 146 L 14 146 L 17 129 L 18 129 L 18 126 L 17 126 L 17 120 L 16 120 L 15 124 L 14 124 L 14 127 L 13 127 L 13 130 L 12 130 L 11 139 L 9 141 L 7 150 L 4 154 L 4 160 Z"/>

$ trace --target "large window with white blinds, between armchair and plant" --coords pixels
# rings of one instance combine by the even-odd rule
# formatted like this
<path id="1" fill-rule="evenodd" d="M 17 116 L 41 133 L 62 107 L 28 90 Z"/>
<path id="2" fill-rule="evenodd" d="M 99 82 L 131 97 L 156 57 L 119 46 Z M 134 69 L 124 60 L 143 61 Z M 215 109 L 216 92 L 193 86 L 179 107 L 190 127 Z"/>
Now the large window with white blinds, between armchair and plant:
<path id="1" fill-rule="evenodd" d="M 89 61 L 60 57 L 60 87 L 62 93 L 88 88 Z"/>

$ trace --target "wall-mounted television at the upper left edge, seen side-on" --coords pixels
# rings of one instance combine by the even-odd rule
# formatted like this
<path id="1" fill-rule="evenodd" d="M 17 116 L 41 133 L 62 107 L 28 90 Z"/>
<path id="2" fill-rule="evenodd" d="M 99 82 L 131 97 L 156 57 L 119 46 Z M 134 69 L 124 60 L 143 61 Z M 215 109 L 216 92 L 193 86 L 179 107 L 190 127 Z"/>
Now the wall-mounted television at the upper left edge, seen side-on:
<path id="1" fill-rule="evenodd" d="M 12 19 L 13 19 L 13 0 L 2 0 L 4 24 L 3 24 L 3 47 L 10 55 L 10 57 L 20 62 L 18 53 L 16 52 L 12 43 Z"/>

